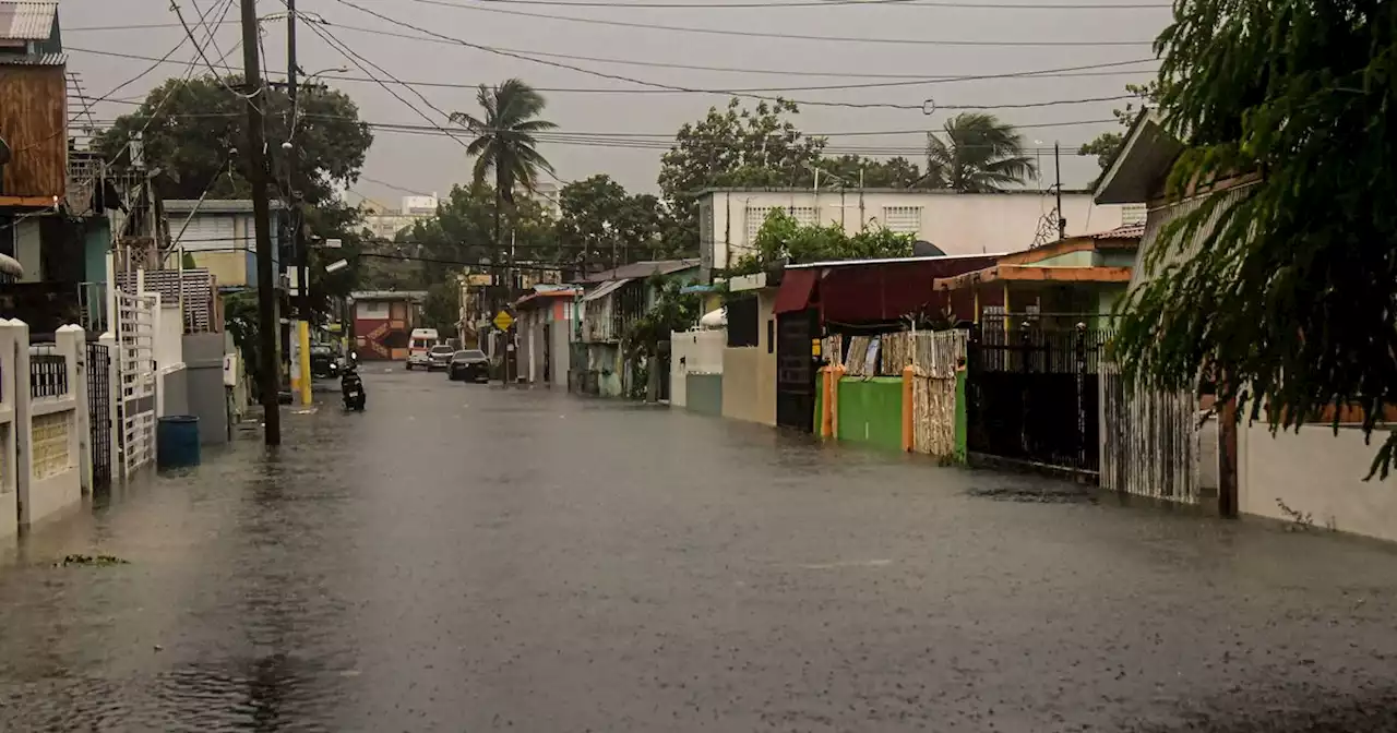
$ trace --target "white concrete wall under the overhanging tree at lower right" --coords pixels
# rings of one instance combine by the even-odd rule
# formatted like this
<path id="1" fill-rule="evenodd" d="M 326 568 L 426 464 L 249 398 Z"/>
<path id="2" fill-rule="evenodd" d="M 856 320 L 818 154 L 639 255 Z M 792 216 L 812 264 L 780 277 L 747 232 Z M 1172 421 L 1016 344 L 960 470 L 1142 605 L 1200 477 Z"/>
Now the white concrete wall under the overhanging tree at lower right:
<path id="1" fill-rule="evenodd" d="M 1306 424 L 1271 437 L 1266 424 L 1238 431 L 1238 504 L 1243 514 L 1295 521 L 1281 508 L 1308 514 L 1316 526 L 1397 540 L 1397 477 L 1363 480 L 1387 434 L 1363 443 L 1356 427 Z"/>

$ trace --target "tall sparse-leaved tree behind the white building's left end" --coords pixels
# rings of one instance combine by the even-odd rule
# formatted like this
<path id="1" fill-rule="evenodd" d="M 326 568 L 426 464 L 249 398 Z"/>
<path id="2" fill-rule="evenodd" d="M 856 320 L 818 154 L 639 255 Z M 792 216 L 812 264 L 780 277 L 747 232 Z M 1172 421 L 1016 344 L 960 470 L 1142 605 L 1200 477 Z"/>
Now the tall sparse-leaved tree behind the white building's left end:
<path id="1" fill-rule="evenodd" d="M 710 108 L 697 123 L 685 123 L 659 161 L 659 190 L 671 207 L 668 246 L 698 249 L 694 194 L 714 186 L 805 186 L 824 149 L 823 137 L 806 137 L 788 116 L 793 102 L 760 102 L 746 109 L 733 98 L 725 110 Z"/>

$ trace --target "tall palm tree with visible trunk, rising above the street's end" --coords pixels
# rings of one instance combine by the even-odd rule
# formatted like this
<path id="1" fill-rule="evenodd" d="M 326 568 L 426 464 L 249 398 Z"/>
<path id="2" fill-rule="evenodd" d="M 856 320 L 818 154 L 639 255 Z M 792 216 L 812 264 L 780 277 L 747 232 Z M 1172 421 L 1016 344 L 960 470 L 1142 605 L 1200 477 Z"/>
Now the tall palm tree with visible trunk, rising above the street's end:
<path id="1" fill-rule="evenodd" d="M 467 112 L 451 113 L 451 121 L 465 126 L 475 140 L 465 152 L 475 158 L 475 183 L 481 184 L 495 173 L 495 251 L 504 250 L 500 239 L 500 214 L 504 205 L 514 208 L 514 187 L 522 186 L 532 191 L 538 173 L 553 172 L 552 163 L 543 158 L 535 145 L 534 133 L 553 130 L 557 126 L 539 120 L 546 102 L 543 96 L 521 80 L 511 78 L 496 87 L 481 85 L 475 95 L 483 116 Z M 496 267 L 499 257 L 495 257 Z M 496 269 L 497 272 L 497 269 Z"/>

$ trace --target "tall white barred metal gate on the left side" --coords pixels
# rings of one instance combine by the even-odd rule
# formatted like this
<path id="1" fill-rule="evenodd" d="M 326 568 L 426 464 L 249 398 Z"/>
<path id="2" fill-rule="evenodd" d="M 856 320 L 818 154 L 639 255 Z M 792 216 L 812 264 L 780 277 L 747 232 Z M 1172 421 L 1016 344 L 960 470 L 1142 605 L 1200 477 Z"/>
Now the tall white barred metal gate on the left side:
<path id="1" fill-rule="evenodd" d="M 122 477 L 155 461 L 155 311 L 159 295 L 116 293 Z"/>

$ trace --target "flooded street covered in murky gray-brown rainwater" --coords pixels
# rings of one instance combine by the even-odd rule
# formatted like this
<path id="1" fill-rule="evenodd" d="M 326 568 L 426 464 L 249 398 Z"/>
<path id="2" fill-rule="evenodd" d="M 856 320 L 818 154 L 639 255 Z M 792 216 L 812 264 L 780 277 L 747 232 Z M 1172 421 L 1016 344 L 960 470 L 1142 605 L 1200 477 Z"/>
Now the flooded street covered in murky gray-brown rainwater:
<path id="1" fill-rule="evenodd" d="M 0 729 L 1397 729 L 1389 546 L 365 381 L 25 538 Z"/>

